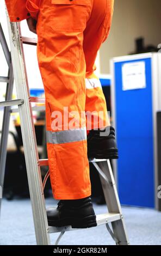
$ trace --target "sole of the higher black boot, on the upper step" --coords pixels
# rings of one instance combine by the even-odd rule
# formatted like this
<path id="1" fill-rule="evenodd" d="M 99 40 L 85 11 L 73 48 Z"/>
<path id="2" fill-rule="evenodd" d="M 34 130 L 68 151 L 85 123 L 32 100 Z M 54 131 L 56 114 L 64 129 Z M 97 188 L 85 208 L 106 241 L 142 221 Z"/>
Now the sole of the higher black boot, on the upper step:
<path id="1" fill-rule="evenodd" d="M 102 149 L 97 151 L 91 151 L 88 154 L 88 158 L 95 158 L 95 159 L 119 159 L 118 149 L 111 148 L 111 149 Z"/>

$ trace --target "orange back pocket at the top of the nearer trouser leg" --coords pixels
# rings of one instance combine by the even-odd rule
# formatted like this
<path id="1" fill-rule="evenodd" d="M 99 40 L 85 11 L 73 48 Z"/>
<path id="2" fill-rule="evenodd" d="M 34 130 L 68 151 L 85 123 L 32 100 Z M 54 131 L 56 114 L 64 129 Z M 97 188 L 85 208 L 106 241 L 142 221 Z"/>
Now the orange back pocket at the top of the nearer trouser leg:
<path id="1" fill-rule="evenodd" d="M 89 17 L 91 0 L 51 0 L 52 28 L 60 32 L 83 32 Z"/>

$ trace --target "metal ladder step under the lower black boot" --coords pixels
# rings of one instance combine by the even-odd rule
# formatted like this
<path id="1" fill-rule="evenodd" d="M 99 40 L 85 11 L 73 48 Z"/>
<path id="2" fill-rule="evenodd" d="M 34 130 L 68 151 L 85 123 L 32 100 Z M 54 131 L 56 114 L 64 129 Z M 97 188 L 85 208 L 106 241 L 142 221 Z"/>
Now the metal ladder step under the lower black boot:
<path id="1" fill-rule="evenodd" d="M 100 214 L 96 216 L 97 225 L 103 225 L 109 222 L 119 221 L 121 220 L 120 214 Z M 73 230 L 79 230 L 77 228 L 72 228 L 71 226 L 66 227 L 48 227 L 48 233 L 59 233 L 64 231 L 73 231 Z"/>

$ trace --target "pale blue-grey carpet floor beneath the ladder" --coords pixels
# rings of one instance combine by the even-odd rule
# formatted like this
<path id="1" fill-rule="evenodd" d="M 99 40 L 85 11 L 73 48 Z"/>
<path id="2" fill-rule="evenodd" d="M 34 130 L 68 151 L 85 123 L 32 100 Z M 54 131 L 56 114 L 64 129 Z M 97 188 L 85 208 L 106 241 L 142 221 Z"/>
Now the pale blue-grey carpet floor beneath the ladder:
<path id="1" fill-rule="evenodd" d="M 46 199 L 46 205 L 53 206 L 56 202 Z M 106 212 L 106 206 L 94 204 L 96 214 Z M 123 207 L 127 232 L 131 245 L 161 245 L 161 213 L 153 209 Z M 58 234 L 51 235 L 51 242 Z M 2 201 L 0 222 L 0 245 L 35 245 L 32 209 L 29 199 Z M 67 232 L 60 245 L 114 245 L 104 225 Z"/>

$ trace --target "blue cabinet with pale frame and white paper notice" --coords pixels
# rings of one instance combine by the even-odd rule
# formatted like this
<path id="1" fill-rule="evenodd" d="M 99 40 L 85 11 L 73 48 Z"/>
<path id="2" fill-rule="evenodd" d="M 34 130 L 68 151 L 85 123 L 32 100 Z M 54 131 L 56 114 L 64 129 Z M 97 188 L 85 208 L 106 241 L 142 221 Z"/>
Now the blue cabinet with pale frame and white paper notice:
<path id="1" fill-rule="evenodd" d="M 145 63 L 146 87 L 123 90 L 122 66 L 135 62 Z M 156 206 L 157 62 L 157 53 L 118 57 L 111 62 L 114 125 L 120 156 L 115 173 L 124 205 Z"/>

